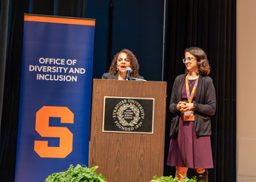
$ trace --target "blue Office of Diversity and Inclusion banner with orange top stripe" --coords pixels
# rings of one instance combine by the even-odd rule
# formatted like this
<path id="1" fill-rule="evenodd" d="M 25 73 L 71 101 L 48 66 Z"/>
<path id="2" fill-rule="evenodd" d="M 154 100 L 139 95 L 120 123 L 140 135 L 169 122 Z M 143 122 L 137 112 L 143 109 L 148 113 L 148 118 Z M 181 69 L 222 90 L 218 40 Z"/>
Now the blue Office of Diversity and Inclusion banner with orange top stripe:
<path id="1" fill-rule="evenodd" d="M 89 162 L 95 20 L 25 15 L 15 182 Z"/>

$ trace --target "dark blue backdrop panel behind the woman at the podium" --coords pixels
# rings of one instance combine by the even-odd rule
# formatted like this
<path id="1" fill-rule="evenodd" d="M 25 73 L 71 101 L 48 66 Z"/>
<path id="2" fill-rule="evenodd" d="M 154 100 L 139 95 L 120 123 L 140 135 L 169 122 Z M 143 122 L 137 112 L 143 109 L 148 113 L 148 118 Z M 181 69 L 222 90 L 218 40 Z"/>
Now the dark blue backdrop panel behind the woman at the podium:
<path id="1" fill-rule="evenodd" d="M 88 0 L 86 17 L 96 19 L 93 77 L 101 78 L 113 55 L 128 48 L 140 75 L 162 79 L 164 0 Z"/>

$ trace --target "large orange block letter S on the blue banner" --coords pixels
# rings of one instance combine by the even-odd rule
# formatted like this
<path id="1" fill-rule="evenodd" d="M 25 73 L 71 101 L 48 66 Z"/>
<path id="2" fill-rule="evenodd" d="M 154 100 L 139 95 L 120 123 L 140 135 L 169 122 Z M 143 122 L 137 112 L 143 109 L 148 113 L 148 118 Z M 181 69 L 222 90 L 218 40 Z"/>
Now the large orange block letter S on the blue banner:
<path id="1" fill-rule="evenodd" d="M 66 127 L 49 127 L 49 117 L 61 117 L 61 123 L 73 123 L 73 112 L 67 107 L 43 106 L 36 116 L 36 131 L 42 137 L 60 138 L 60 146 L 48 146 L 48 141 L 35 140 L 34 150 L 41 157 L 65 158 L 73 151 L 73 134 Z"/>

